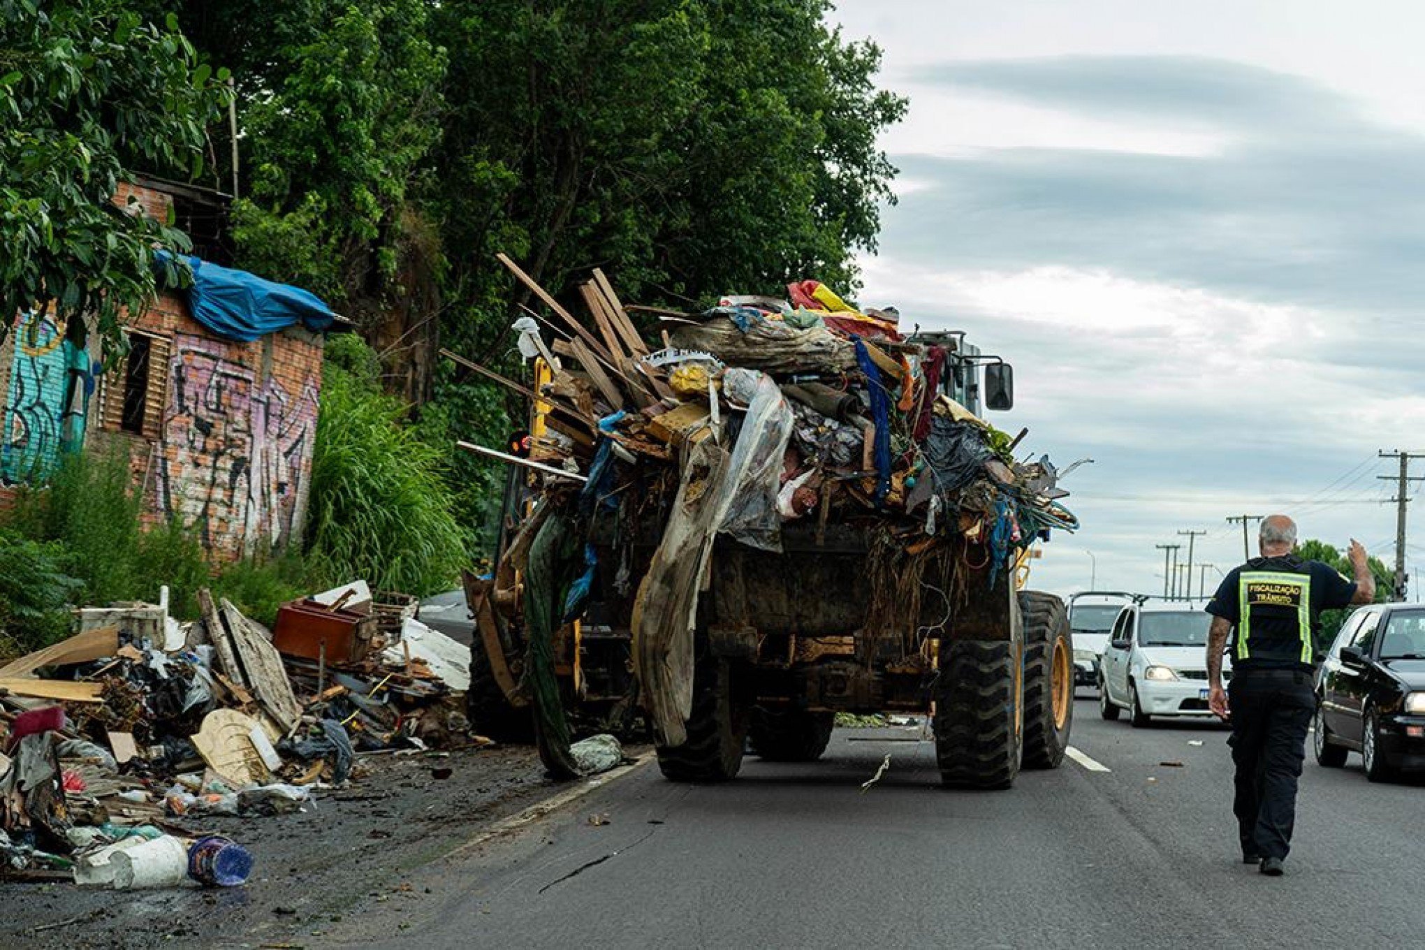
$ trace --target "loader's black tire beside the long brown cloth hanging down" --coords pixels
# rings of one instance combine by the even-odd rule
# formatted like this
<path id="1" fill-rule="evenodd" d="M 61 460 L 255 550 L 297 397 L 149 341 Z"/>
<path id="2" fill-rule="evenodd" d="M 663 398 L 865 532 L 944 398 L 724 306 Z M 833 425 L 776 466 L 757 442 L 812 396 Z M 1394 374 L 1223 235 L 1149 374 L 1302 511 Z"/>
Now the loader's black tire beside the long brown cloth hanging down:
<path id="1" fill-rule="evenodd" d="M 727 782 L 742 768 L 748 704 L 737 689 L 734 665 L 703 657 L 693 669 L 693 714 L 687 741 L 657 746 L 658 768 L 674 782 Z"/>

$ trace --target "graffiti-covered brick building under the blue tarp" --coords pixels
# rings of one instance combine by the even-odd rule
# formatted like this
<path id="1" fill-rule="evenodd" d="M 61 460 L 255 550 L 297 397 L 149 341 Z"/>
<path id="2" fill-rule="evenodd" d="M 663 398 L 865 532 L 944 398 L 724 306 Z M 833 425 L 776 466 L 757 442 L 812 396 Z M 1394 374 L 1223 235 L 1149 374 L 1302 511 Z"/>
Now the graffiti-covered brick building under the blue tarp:
<path id="1" fill-rule="evenodd" d="M 211 195 L 152 179 L 123 185 L 115 201 L 130 195 L 147 214 L 172 211 L 200 256 L 222 256 L 217 229 L 202 226 L 219 216 Z M 252 342 L 227 339 L 168 292 L 127 322 L 128 352 L 108 366 L 87 330 L 33 312 L 0 326 L 0 496 L 4 486 L 43 480 L 64 451 L 117 443 L 145 518 L 180 520 L 215 558 L 301 537 L 321 333 L 294 323 Z"/>

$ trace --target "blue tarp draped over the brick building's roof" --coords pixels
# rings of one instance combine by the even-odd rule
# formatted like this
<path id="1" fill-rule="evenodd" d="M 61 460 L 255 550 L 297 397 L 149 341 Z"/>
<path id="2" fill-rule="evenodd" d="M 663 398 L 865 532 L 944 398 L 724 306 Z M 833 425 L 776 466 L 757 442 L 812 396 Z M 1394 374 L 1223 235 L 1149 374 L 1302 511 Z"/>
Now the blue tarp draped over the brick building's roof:
<path id="1" fill-rule="evenodd" d="M 158 252 L 162 263 L 168 252 Z M 187 258 L 192 286 L 182 293 L 195 320 L 229 340 L 252 342 L 301 322 L 322 332 L 335 313 L 315 293 L 265 281 L 247 271 L 234 271 L 201 258 Z"/>

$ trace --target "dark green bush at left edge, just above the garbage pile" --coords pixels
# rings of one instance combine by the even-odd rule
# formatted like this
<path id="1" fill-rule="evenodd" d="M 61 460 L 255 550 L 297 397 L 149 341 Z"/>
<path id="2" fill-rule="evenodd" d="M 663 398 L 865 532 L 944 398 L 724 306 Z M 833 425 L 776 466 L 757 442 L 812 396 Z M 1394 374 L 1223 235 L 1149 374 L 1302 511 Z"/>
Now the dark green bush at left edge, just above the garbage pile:
<path id="1" fill-rule="evenodd" d="M 0 655 L 23 654 L 64 638 L 70 597 L 80 581 L 64 573 L 58 544 L 0 528 Z"/>

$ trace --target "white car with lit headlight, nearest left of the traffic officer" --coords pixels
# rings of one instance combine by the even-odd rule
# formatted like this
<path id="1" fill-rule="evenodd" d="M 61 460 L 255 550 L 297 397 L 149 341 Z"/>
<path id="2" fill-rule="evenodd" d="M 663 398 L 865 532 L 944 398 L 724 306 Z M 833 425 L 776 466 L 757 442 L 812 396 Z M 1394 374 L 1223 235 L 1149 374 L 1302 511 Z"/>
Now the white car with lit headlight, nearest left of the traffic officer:
<path id="1" fill-rule="evenodd" d="M 1099 711 L 1117 719 L 1127 709 L 1133 725 L 1153 716 L 1210 718 L 1207 706 L 1207 630 L 1213 618 L 1203 601 L 1144 601 L 1119 614 L 1099 667 Z M 1223 657 L 1223 682 L 1231 678 Z"/>

